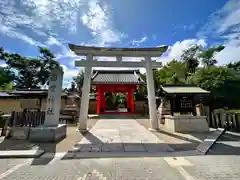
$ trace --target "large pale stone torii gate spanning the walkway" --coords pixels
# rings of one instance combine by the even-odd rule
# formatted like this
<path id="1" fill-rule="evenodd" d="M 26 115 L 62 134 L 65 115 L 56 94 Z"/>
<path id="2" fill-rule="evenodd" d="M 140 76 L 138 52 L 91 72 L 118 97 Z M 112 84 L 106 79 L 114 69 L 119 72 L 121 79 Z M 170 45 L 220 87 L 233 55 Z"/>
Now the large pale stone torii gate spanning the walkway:
<path id="1" fill-rule="evenodd" d="M 157 130 L 159 128 L 152 69 L 162 67 L 162 63 L 152 61 L 151 58 L 161 56 L 167 50 L 168 46 L 161 46 L 155 48 L 102 48 L 69 44 L 69 48 L 78 56 L 86 56 L 86 60 L 75 61 L 75 66 L 85 67 L 78 125 L 79 131 L 88 130 L 87 116 L 92 67 L 146 68 L 149 118 L 151 127 L 149 128 L 149 130 Z M 116 57 L 117 61 L 97 61 L 96 59 L 93 59 L 94 56 Z M 122 61 L 122 57 L 144 57 L 144 60 L 140 62 Z"/>

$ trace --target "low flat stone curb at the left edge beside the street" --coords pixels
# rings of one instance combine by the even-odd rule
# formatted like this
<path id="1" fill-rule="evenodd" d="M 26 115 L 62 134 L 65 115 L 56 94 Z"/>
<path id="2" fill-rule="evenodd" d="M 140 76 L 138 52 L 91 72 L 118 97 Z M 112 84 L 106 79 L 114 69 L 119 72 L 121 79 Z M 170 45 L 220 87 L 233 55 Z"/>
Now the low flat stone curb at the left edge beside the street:
<path id="1" fill-rule="evenodd" d="M 0 151 L 1 158 L 38 158 L 44 153 L 44 150 L 10 150 Z"/>

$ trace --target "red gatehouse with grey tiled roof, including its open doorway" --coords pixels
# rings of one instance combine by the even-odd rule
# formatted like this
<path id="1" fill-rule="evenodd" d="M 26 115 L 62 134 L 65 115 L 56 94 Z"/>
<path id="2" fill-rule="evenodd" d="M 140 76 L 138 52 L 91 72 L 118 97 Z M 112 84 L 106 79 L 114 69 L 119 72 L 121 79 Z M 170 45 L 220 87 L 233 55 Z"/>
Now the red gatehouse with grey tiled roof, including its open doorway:
<path id="1" fill-rule="evenodd" d="M 97 114 L 134 114 L 134 92 L 144 84 L 139 70 L 94 70 Z"/>

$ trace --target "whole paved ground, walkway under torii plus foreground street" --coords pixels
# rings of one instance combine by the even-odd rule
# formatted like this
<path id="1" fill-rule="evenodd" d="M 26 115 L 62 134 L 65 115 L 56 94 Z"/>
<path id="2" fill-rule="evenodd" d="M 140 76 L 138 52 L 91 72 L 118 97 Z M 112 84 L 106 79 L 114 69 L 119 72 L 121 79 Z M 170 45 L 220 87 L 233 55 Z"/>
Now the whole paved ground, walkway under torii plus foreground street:
<path id="1" fill-rule="evenodd" d="M 240 156 L 214 152 L 174 152 L 135 120 L 99 120 L 74 151 L 0 159 L 0 180 L 238 180 Z"/>

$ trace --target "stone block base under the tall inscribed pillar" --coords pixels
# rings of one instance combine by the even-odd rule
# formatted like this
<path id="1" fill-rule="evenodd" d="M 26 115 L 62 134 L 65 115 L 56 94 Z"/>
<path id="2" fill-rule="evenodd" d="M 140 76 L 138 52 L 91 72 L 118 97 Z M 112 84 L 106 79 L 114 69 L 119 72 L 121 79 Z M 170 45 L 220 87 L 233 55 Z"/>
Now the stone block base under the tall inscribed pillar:
<path id="1" fill-rule="evenodd" d="M 29 140 L 33 142 L 57 142 L 64 139 L 66 134 L 66 124 L 59 124 L 54 127 L 36 127 L 30 129 Z"/>

